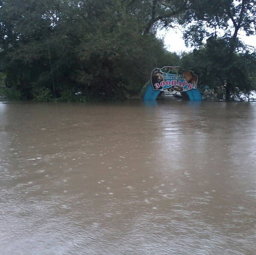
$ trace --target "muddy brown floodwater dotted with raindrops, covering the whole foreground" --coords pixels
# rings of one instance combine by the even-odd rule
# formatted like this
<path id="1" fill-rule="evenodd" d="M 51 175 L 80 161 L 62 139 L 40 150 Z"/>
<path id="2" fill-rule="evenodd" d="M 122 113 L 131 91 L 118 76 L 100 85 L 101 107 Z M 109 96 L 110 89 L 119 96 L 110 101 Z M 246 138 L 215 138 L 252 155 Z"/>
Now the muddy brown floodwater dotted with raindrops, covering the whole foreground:
<path id="1" fill-rule="evenodd" d="M 1 255 L 256 255 L 256 103 L 0 103 Z"/>

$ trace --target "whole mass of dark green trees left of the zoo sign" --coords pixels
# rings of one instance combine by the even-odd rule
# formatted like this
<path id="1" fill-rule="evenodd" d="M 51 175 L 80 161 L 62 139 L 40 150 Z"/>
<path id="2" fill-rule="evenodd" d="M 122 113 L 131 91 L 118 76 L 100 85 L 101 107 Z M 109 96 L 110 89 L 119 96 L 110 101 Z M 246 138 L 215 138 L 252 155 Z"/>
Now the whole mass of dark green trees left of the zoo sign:
<path id="1" fill-rule="evenodd" d="M 168 1 L 167 1 L 168 2 Z M 169 1 L 170 2 L 170 1 Z M 0 12 L 6 82 L 25 98 L 135 94 L 152 68 L 179 59 L 144 33 L 151 1 L 9 0 Z M 72 100 L 72 98 L 71 98 Z"/>

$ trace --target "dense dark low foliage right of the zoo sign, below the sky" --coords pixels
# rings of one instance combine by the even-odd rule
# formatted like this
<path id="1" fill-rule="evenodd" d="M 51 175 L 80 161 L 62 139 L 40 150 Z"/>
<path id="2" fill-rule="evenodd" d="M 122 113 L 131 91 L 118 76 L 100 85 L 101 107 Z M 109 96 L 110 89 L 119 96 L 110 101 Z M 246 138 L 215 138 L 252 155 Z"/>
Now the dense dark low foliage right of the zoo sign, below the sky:
<path id="1" fill-rule="evenodd" d="M 232 53 L 230 62 L 229 46 L 223 38 L 209 38 L 199 50 L 184 54 L 181 61 L 199 76 L 199 88 L 206 97 L 214 94 L 214 98 L 223 99 L 227 86 L 231 98 L 256 89 L 255 54 Z"/>

